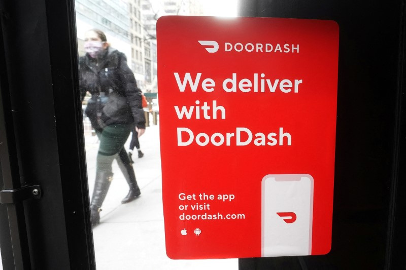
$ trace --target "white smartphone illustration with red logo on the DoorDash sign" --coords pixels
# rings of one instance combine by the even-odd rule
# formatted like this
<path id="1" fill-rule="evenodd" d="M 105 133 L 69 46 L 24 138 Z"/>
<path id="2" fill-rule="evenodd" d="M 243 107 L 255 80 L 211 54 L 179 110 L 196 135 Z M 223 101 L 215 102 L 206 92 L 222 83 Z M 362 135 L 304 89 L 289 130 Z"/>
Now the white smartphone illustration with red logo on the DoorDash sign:
<path id="1" fill-rule="evenodd" d="M 312 254 L 313 177 L 262 178 L 262 257 Z"/>

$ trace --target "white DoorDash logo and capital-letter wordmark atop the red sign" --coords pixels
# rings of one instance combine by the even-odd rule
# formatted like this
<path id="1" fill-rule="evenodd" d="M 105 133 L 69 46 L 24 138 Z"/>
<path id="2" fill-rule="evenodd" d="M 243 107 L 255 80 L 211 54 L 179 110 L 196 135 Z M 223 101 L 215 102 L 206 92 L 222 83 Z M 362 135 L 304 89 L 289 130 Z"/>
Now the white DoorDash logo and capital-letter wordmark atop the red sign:
<path id="1" fill-rule="evenodd" d="M 219 44 L 216 41 L 198 41 L 209 53 L 216 53 Z M 254 52 L 254 53 L 299 53 L 299 44 L 270 44 L 270 43 L 224 43 L 224 52 Z"/>

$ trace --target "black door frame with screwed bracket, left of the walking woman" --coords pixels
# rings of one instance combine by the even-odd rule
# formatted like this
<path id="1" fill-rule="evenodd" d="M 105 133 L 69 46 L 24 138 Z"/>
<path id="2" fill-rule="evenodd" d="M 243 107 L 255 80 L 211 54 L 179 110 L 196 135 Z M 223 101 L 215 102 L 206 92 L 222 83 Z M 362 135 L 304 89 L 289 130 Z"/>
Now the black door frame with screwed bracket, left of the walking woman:
<path id="1" fill-rule="evenodd" d="M 94 269 L 74 1 L 2 0 L 0 16 L 1 66 L 7 67 L 1 91 L 10 93 L 3 100 L 10 106 L 2 110 L 12 119 L 6 129 L 14 135 L 17 174 L 43 191 L 40 200 L 26 200 L 21 208 L 28 246 L 21 245 L 29 249 L 30 265 L 14 265 L 15 224 L 0 205 L 4 268 Z M 0 186 L 6 181 L 0 175 Z"/>

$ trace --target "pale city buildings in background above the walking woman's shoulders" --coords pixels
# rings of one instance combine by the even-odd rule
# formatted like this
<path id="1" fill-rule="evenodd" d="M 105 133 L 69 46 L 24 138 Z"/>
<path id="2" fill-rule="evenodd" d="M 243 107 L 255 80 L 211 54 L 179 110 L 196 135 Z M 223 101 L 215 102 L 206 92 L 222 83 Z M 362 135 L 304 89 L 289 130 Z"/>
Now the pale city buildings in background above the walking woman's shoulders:
<path id="1" fill-rule="evenodd" d="M 77 0 L 79 55 L 89 29 L 104 31 L 113 48 L 123 52 L 143 92 L 156 93 L 156 21 L 164 15 L 203 15 L 197 0 Z"/>

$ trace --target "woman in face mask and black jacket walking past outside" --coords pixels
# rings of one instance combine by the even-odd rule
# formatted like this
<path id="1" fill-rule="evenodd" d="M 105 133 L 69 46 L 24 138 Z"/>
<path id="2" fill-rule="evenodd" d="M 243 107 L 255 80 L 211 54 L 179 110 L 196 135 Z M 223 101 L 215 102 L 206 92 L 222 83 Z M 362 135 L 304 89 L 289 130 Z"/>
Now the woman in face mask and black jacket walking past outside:
<path id="1" fill-rule="evenodd" d="M 142 93 L 125 55 L 110 47 L 106 35 L 98 29 L 86 32 L 84 49 L 86 55 L 79 58 L 81 95 L 83 100 L 86 92 L 91 94 L 85 112 L 100 140 L 90 202 L 91 221 L 95 226 L 100 222 L 101 205 L 113 179 L 114 159 L 129 185 L 122 203 L 141 195 L 124 143 L 134 126 L 138 136 L 144 134 L 145 117 Z"/>

